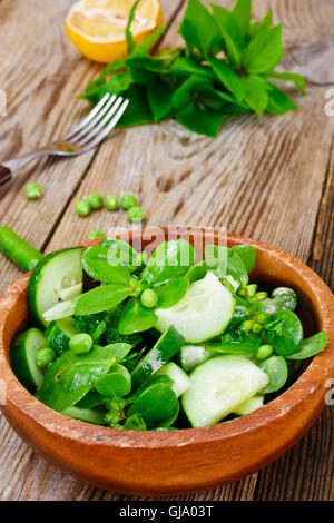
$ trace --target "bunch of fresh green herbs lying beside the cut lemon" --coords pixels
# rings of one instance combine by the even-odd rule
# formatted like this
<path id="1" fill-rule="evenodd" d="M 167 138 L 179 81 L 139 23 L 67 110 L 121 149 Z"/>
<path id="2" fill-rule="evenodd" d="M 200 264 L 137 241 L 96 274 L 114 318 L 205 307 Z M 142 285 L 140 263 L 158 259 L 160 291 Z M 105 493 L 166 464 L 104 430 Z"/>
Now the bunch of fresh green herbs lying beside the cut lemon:
<path id="1" fill-rule="evenodd" d="M 273 26 L 272 10 L 250 22 L 252 0 L 237 0 L 232 10 L 188 0 L 179 33 L 183 49 L 149 55 L 165 28 L 135 45 L 131 9 L 126 38 L 128 58 L 109 63 L 79 98 L 97 103 L 106 92 L 129 98 L 119 127 L 175 118 L 187 129 L 216 137 L 228 115 L 283 115 L 296 103 L 272 80 L 291 81 L 305 93 L 303 77 L 277 72 L 285 51 L 282 23 Z"/>

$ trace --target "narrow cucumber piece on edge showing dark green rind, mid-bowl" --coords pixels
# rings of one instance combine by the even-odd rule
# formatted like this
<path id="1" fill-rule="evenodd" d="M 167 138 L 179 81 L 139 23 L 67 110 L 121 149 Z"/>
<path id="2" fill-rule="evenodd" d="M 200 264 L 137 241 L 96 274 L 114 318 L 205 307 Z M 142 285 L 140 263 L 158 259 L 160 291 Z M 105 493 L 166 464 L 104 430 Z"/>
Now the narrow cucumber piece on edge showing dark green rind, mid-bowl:
<path id="1" fill-rule="evenodd" d="M 139 388 L 153 374 L 159 371 L 181 348 L 184 343 L 184 337 L 170 325 L 131 372 L 132 389 Z"/>

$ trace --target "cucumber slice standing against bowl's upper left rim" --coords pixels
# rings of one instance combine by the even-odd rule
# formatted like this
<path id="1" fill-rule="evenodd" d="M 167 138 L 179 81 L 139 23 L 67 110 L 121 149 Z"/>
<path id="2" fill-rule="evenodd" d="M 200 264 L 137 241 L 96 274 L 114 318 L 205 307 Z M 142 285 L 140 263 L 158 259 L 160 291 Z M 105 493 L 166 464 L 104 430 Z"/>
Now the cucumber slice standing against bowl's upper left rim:
<path id="1" fill-rule="evenodd" d="M 50 319 L 43 318 L 43 313 L 51 309 L 63 299 L 63 296 L 77 295 L 82 292 L 82 247 L 52 253 L 32 272 L 28 299 L 33 319 L 41 326 L 47 326 Z"/>

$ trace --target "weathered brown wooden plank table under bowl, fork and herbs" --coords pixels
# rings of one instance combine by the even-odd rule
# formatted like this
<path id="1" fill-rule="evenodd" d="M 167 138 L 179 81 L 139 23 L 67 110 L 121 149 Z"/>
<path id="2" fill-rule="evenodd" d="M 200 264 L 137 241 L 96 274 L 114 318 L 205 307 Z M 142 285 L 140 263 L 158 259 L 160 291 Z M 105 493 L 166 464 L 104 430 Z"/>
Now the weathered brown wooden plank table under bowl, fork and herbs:
<path id="1" fill-rule="evenodd" d="M 0 88 L 8 97 L 8 116 L 0 117 L 3 158 L 61 136 L 87 107 L 73 96 L 100 67 L 82 58 L 66 37 L 63 19 L 71 3 L 0 0 Z M 163 45 L 175 46 L 185 1 L 161 3 L 168 28 Z M 90 190 L 131 191 L 148 211 L 148 226 L 224 225 L 296 255 L 333 284 L 334 116 L 325 112 L 325 95 L 334 87 L 334 1 L 253 3 L 257 19 L 274 8 L 275 21 L 284 22 L 284 67 L 307 79 L 306 97 L 288 88 L 299 105 L 297 112 L 262 120 L 230 118 L 215 140 L 191 135 L 175 121 L 116 131 L 94 152 L 22 169 L 1 199 L 1 225 L 43 251 L 55 250 L 85 240 L 94 228 L 108 233 L 128 226 L 124 213 L 78 217 L 77 199 Z M 43 196 L 36 203 L 24 197 L 28 180 L 42 186 Z M 2 256 L 0 267 L 3 292 L 19 270 Z M 267 468 L 180 499 L 333 500 L 333 424 L 334 409 L 326 407 L 312 431 Z M 2 416 L 0 499 L 130 497 L 57 471 L 22 443 Z"/>

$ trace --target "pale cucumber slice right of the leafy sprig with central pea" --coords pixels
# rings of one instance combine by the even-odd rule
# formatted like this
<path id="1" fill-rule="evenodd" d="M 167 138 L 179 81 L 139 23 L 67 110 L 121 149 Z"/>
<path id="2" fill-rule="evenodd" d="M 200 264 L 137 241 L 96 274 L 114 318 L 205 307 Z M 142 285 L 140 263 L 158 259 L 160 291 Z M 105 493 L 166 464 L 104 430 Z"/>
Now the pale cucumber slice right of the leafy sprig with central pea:
<path id="1" fill-rule="evenodd" d="M 184 336 L 187 343 L 202 343 L 218 336 L 230 322 L 235 299 L 230 292 L 213 274 L 190 285 L 186 296 L 170 308 L 156 309 L 160 332 L 169 325 Z"/>

